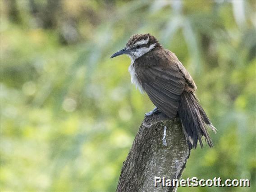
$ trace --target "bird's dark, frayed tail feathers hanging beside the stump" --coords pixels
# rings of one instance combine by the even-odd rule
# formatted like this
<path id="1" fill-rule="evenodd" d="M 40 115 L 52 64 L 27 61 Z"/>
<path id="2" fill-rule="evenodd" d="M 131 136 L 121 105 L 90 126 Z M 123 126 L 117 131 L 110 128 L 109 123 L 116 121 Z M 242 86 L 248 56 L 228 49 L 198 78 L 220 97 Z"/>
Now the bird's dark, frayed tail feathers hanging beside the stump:
<path id="1" fill-rule="evenodd" d="M 213 143 L 207 133 L 206 127 L 210 127 L 215 133 L 216 128 L 211 124 L 206 112 L 203 110 L 193 93 L 187 91 L 182 93 L 179 101 L 178 114 L 190 149 L 196 149 L 197 140 L 199 141 L 200 146 L 203 147 L 202 136 L 205 137 L 208 145 L 213 147 Z"/>

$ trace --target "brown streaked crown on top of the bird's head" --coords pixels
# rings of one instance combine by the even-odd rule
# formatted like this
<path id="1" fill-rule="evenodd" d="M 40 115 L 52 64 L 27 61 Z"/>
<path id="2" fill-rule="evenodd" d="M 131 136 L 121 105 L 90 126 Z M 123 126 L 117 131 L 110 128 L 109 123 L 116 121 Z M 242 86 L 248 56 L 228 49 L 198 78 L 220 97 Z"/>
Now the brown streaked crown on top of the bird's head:
<path id="1" fill-rule="evenodd" d="M 152 44 L 155 44 L 155 47 L 159 47 L 161 46 L 160 43 L 157 41 L 157 39 L 152 36 L 149 33 L 146 34 L 135 34 L 132 37 L 130 37 L 130 39 L 128 40 L 126 47 L 132 47 L 133 45 L 135 45 L 137 42 L 142 41 L 142 40 L 148 40 L 147 42 L 147 46 L 150 46 Z"/>

